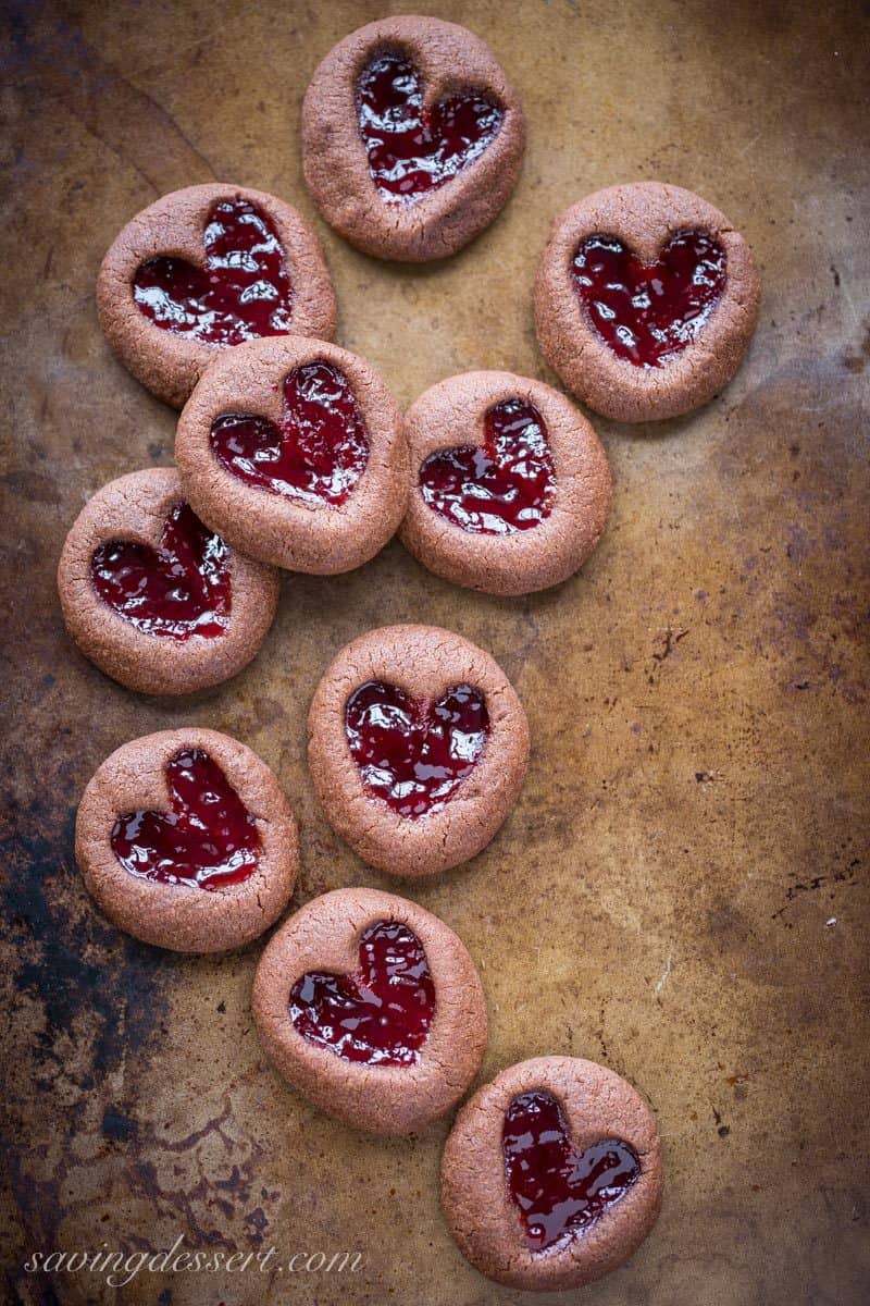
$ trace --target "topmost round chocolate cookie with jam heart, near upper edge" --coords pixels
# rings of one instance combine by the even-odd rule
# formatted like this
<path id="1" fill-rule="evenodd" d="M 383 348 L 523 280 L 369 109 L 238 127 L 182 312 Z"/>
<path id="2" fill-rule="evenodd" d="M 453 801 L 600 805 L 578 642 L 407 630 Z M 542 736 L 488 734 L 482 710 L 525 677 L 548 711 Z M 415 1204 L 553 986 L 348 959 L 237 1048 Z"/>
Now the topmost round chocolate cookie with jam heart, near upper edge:
<path id="1" fill-rule="evenodd" d="M 378 259 L 462 249 L 507 202 L 524 148 L 523 111 L 494 55 L 438 18 L 403 14 L 351 33 L 303 104 L 314 202 Z"/>

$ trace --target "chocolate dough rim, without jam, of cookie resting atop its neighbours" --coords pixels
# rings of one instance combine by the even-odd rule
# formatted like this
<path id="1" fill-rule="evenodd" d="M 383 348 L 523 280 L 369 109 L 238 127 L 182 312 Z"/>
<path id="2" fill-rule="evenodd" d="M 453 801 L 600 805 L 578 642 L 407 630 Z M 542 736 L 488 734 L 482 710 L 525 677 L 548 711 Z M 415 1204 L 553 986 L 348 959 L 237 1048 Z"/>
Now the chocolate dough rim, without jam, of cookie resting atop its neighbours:
<path id="1" fill-rule="evenodd" d="M 211 424 L 222 413 L 241 410 L 278 422 L 284 377 L 317 360 L 347 376 L 369 441 L 365 469 L 338 507 L 312 507 L 249 486 L 223 468 L 210 447 Z M 239 397 L 243 389 L 248 394 Z M 312 336 L 247 341 L 217 359 L 184 405 L 175 458 L 197 516 L 248 558 L 286 571 L 333 576 L 361 567 L 389 543 L 404 516 L 407 447 L 386 381 L 359 354 Z"/>

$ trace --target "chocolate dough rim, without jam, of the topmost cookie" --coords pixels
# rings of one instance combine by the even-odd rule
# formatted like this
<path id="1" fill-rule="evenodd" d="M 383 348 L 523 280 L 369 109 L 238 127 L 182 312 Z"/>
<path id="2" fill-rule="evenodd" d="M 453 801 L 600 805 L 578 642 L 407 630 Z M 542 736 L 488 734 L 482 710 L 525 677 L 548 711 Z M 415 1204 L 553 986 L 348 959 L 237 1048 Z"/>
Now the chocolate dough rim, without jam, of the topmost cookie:
<path id="1" fill-rule="evenodd" d="M 411 205 L 381 197 L 359 131 L 359 78 L 381 50 L 399 50 L 412 59 L 425 85 L 427 107 L 451 90 L 476 90 L 494 98 L 503 114 L 498 133 L 472 163 Z M 457 253 L 506 205 L 524 150 L 519 97 L 496 55 L 467 27 L 441 18 L 395 14 L 357 27 L 321 60 L 303 101 L 303 170 L 309 193 L 325 222 L 378 259 L 428 263 Z M 330 199 L 337 178 L 343 206 Z"/>

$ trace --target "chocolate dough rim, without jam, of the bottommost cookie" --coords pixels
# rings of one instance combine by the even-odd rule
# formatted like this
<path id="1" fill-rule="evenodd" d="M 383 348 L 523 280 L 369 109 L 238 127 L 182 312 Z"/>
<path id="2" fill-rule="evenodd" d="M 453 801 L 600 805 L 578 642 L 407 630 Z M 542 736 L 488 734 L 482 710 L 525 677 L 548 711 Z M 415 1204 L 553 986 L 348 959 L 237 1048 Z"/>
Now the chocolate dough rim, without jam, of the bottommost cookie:
<path id="1" fill-rule="evenodd" d="M 507 1106 L 533 1089 L 557 1098 L 575 1147 L 617 1136 L 640 1160 L 639 1178 L 593 1226 L 540 1252 L 524 1242 L 502 1145 Z M 578 1057 L 507 1066 L 460 1109 L 441 1158 L 441 1207 L 457 1246 L 481 1273 L 511 1288 L 570 1289 L 601 1279 L 644 1242 L 661 1199 L 661 1138 L 650 1106 L 621 1075 Z"/>

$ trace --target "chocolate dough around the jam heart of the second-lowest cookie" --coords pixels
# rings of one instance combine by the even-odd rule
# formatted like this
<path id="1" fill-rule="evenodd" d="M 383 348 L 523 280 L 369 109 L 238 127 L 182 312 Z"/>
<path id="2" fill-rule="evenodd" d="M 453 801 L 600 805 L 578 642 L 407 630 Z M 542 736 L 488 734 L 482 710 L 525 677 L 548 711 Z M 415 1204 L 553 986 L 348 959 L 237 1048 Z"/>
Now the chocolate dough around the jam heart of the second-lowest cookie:
<path id="1" fill-rule="evenodd" d="M 307 978 L 340 982 L 357 972 L 363 940 L 382 923 L 404 926 L 419 940 L 434 995 L 425 1038 L 402 1064 L 351 1060 L 305 1037 L 291 1016 Z M 419 959 L 413 973 L 419 981 Z M 462 940 L 415 902 L 367 888 L 323 893 L 284 922 L 257 966 L 253 1015 L 265 1051 L 290 1084 L 330 1115 L 377 1134 L 408 1134 L 445 1115 L 473 1080 L 487 1047 L 485 999 Z M 383 1020 L 389 1024 L 390 1015 Z M 351 1027 L 359 1028 L 355 1020 Z"/>

